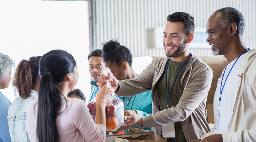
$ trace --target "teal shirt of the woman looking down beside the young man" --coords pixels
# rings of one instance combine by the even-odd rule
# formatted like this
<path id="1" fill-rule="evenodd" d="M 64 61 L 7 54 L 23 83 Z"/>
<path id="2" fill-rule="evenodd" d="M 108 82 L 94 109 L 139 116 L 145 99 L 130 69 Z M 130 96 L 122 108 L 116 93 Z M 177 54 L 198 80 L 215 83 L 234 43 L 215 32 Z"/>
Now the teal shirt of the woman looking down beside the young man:
<path id="1" fill-rule="evenodd" d="M 129 97 L 120 97 L 120 96 L 117 96 L 117 97 L 123 100 L 124 111 L 136 110 L 139 116 L 146 116 L 152 113 L 151 90 L 140 93 L 140 94 L 136 94 L 130 97 L 129 103 L 128 103 Z M 139 128 L 139 127 L 134 127 L 134 128 Z M 148 127 L 143 129 L 150 130 L 150 128 Z"/>

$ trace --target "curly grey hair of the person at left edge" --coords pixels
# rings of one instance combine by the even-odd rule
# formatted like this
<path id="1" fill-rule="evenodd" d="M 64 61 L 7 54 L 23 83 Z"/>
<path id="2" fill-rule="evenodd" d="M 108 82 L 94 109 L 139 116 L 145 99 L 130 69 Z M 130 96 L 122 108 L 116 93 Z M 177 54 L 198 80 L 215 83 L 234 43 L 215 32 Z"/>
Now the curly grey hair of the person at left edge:
<path id="1" fill-rule="evenodd" d="M 8 55 L 0 53 L 0 81 L 8 76 L 8 73 L 13 66 L 13 60 Z"/>

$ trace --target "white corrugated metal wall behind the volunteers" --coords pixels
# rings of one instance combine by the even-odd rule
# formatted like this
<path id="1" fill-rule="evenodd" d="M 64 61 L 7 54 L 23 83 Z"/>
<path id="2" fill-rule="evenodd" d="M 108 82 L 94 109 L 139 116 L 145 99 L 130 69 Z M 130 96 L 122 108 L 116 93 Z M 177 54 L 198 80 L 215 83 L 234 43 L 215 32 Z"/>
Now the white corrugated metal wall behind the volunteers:
<path id="1" fill-rule="evenodd" d="M 212 12 L 223 7 L 237 8 L 245 16 L 245 45 L 255 48 L 255 0 L 92 0 L 91 50 L 101 48 L 101 43 L 118 38 L 134 57 L 165 56 L 164 49 L 152 46 L 149 35 L 154 27 L 165 26 L 166 17 L 184 11 L 195 18 L 195 27 L 206 27 Z M 159 35 L 162 36 L 162 35 Z M 205 39 L 206 40 L 206 39 Z M 211 50 L 189 48 L 198 56 L 212 56 Z"/>

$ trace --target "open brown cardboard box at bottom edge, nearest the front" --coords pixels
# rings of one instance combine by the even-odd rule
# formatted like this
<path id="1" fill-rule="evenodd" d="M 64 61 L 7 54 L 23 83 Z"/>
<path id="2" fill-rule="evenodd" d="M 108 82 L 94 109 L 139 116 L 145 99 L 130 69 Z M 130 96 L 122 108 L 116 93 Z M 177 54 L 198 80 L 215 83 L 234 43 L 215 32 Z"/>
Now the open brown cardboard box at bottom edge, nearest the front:
<path id="1" fill-rule="evenodd" d="M 116 137 L 115 142 L 167 142 L 167 138 L 158 134 L 146 134 L 139 137 Z"/>

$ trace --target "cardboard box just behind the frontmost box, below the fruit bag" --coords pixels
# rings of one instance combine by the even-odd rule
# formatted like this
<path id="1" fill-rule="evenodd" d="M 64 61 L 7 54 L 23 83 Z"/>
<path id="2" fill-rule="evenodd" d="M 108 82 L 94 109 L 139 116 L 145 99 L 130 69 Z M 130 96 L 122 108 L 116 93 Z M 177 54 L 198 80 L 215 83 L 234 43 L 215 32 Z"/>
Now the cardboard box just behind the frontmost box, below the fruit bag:
<path id="1" fill-rule="evenodd" d="M 138 128 L 130 128 L 131 133 L 130 134 L 116 134 L 117 131 L 112 132 L 113 135 L 106 135 L 106 141 L 105 142 L 114 142 L 115 137 L 138 137 L 145 134 L 153 134 L 152 131 L 138 129 Z M 108 132 L 107 132 L 108 134 Z"/>

